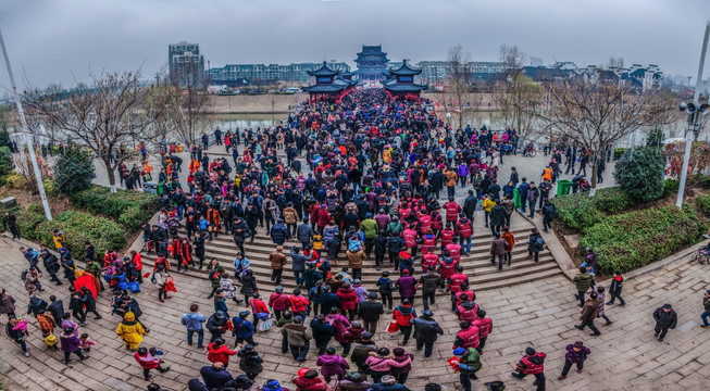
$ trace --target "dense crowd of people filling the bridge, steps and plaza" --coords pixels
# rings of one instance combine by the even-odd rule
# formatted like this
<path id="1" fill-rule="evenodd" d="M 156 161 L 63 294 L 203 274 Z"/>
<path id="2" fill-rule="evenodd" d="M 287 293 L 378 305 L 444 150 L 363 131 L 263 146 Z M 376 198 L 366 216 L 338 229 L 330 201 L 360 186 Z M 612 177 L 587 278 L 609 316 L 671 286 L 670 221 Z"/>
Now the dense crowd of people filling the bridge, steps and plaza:
<path id="1" fill-rule="evenodd" d="M 211 289 L 208 299 L 214 311 L 202 315 L 195 303 L 180 319 L 188 345 L 195 343 L 197 335 L 197 348 L 207 350 L 210 362 L 201 368 L 201 378 L 190 380 L 190 390 L 285 390 L 278 381 L 262 376 L 259 332 L 275 327 L 285 355 L 290 353 L 299 363 L 314 356 L 320 367 L 299 370 L 292 379 L 297 390 L 399 391 L 408 390 L 412 362 L 429 357 L 444 335 L 437 323 L 444 314 L 433 311 L 444 295 L 450 300 L 450 311 L 460 327 L 453 339 L 446 341 L 452 343 L 448 364 L 459 375 L 461 387 L 471 391 L 494 331 L 491 316 L 476 301 L 475 287 L 469 281 L 473 270 L 460 262 L 462 255 L 471 253 L 474 213 L 483 211 L 490 229 L 490 263 L 499 270 L 510 267 L 518 241 L 510 229 L 511 219 L 521 218 L 514 217 L 515 207 L 530 217 L 536 210 L 541 212 L 547 231 L 556 217 L 550 191 L 561 165 L 574 172 L 577 151 L 572 146 L 550 148 L 550 163 L 538 184 L 525 177 L 519 181 L 513 167 L 501 187 L 498 165 L 507 154 L 516 153 L 516 147 L 507 148 L 518 139 L 515 130 L 453 129 L 431 108 L 424 99 L 390 99 L 377 89 L 354 90 L 338 101 L 310 100 L 282 126 L 224 134 L 215 130 L 217 143 L 232 154 L 232 162 L 225 157 L 211 160 L 204 135 L 200 144 L 190 146 L 189 176 L 184 184 L 178 175 L 184 168 L 182 160 L 166 151 L 158 176 L 161 211 L 157 224 L 146 223 L 144 229 L 144 250 L 157 256 L 152 270 L 144 273 L 147 268 L 141 254 L 135 251 L 121 257 L 108 250 L 100 263 L 91 243 L 86 244 L 86 266 L 80 268 L 66 249 L 63 234 L 55 231 L 59 257 L 43 247 L 39 251 L 21 249 L 29 263 L 22 276 L 30 298 L 28 314 L 36 316 L 50 346 L 57 346 L 53 329 L 60 328 L 59 345 L 65 362 L 72 354 L 86 360 L 95 342 L 79 329 L 86 327 L 87 314 L 101 317 L 96 301 L 109 289 L 113 293 L 112 314 L 122 318 L 116 335 L 149 380 L 152 369 L 164 373 L 170 367 L 164 365 L 163 352 L 141 345 L 142 337 L 151 331 L 140 319 L 142 312 L 134 293 L 140 291 L 144 279 L 149 279 L 158 288 L 158 301 L 164 303 L 175 291 L 175 267 L 177 273 L 205 269 Z M 285 161 L 278 154 L 282 150 Z M 144 150 L 141 154 L 146 162 L 142 171 L 134 167 L 139 174 L 126 175 L 130 186 L 139 186 L 138 178 L 145 180 L 152 171 L 147 172 Z M 588 151 L 580 151 L 581 172 L 585 172 L 588 155 Z M 584 176 L 575 178 L 574 191 L 588 189 Z M 520 201 L 514 201 L 515 194 Z M 5 220 L 15 224 L 14 219 Z M 11 231 L 13 239 L 15 234 L 20 237 L 16 228 L 11 227 Z M 269 262 L 270 282 L 276 288 L 269 295 L 259 289 L 265 281 L 250 268 L 251 248 L 245 245 L 264 234 L 274 243 Z M 233 274 L 205 251 L 205 243 L 220 235 L 234 240 L 237 255 Z M 292 244 L 284 253 L 288 241 Z M 538 262 L 545 245 L 540 232 L 533 229 L 527 238 L 528 256 Z M 39 260 L 57 285 L 63 283 L 58 273 L 64 272 L 70 282 L 68 311 L 54 295 L 49 298 L 51 303 L 40 299 Z M 365 265 L 365 260 L 374 264 Z M 346 263 L 347 267 L 341 267 Z M 596 254 L 588 249 L 575 277 L 582 307 L 582 324 L 576 327 L 589 327 L 598 336 L 597 317 L 611 324 L 605 304 L 611 305 L 615 299 L 621 305 L 625 302 L 621 297 L 623 278 L 618 274 L 606 303 L 603 287 L 595 287 L 595 266 Z M 363 283 L 365 267 L 381 273 L 376 285 Z M 283 279 L 290 280 L 283 275 L 284 269 L 292 270 L 297 288 L 290 292 L 282 283 Z M 10 317 L 8 335 L 28 355 L 27 320 L 14 310 L 14 298 L 3 290 L 0 312 Z M 675 327 L 674 316 L 670 305 L 653 314 L 659 340 Z M 387 318 L 386 329 L 378 330 L 381 320 Z M 205 330 L 210 333 L 207 343 Z M 401 333 L 398 346 L 385 345 L 376 338 L 378 332 Z M 234 344 L 229 337 L 234 337 Z M 415 342 L 414 349 L 408 348 L 410 339 Z M 521 351 L 525 354 L 513 377 L 532 375 L 537 390 L 544 390 L 546 354 L 532 346 Z M 582 341 L 569 344 L 562 353 L 565 364 L 559 379 L 572 365 L 582 373 L 590 353 Z M 236 377 L 227 369 L 233 355 L 239 361 Z M 500 381 L 487 384 L 491 389 L 502 387 Z M 440 386 L 432 382 L 425 389 L 438 391 Z"/>

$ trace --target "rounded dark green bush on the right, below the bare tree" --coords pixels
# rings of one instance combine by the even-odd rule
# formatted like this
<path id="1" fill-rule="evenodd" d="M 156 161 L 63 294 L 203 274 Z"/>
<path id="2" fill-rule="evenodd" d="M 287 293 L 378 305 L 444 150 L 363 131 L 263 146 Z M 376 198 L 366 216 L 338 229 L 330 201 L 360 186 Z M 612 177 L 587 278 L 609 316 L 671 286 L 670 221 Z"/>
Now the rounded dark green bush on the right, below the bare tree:
<path id="1" fill-rule="evenodd" d="M 653 148 L 627 151 L 616 162 L 614 179 L 632 199 L 642 202 L 663 195 L 663 154 Z"/>

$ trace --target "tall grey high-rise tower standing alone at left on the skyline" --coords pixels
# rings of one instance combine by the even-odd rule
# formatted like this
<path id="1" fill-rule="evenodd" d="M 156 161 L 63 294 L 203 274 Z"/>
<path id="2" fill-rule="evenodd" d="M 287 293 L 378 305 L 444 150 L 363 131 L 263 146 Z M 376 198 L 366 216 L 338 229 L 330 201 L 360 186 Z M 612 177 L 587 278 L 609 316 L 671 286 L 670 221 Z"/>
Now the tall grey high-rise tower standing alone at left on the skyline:
<path id="1" fill-rule="evenodd" d="M 199 85 L 208 75 L 204 73 L 204 55 L 198 43 L 178 42 L 167 47 L 167 68 L 172 83 L 180 86 Z"/>

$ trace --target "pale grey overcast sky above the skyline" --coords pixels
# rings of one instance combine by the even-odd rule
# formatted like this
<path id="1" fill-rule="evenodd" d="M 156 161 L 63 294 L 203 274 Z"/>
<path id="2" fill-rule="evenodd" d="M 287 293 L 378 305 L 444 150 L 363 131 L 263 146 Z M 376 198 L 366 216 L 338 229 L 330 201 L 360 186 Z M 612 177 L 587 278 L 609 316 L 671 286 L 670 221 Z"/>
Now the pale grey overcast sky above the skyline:
<path id="1" fill-rule="evenodd" d="M 211 65 L 352 60 L 382 45 L 391 61 L 445 60 L 461 43 L 496 61 L 502 43 L 580 65 L 610 55 L 695 75 L 709 0 L 0 0 L 21 88 L 71 86 L 89 71 L 167 62 L 167 45 L 200 45 Z M 710 62 L 710 59 L 709 61 Z M 706 63 L 705 77 L 710 66 Z M 0 70 L 0 88 L 10 86 Z"/>

